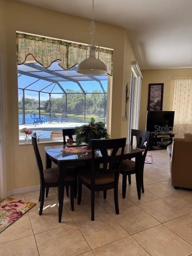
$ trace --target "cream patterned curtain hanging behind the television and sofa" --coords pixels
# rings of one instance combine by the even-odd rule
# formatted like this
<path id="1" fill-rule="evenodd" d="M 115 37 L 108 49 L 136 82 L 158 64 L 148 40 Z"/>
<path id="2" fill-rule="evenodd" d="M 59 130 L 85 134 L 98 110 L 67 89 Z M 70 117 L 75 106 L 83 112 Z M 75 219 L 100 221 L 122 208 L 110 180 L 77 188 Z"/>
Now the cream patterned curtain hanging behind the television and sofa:
<path id="1" fill-rule="evenodd" d="M 172 110 L 178 136 L 192 132 L 192 78 L 173 79 Z"/>

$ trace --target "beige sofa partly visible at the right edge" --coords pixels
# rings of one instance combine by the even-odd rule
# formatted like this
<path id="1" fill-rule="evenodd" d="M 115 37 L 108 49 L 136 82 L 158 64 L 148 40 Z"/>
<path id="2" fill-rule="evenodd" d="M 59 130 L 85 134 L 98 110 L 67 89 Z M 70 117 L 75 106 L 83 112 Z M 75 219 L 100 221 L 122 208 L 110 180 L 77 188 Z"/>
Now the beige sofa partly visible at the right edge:
<path id="1" fill-rule="evenodd" d="M 192 133 L 175 138 L 167 151 L 174 188 L 192 188 Z"/>

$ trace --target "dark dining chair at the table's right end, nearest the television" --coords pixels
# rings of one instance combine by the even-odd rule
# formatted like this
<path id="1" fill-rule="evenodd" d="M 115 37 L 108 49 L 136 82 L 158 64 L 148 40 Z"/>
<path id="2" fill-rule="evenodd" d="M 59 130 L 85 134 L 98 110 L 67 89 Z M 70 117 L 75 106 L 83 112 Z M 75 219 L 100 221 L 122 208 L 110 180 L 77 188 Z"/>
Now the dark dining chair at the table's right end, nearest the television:
<path id="1" fill-rule="evenodd" d="M 144 184 L 143 184 L 143 170 L 144 170 L 144 163 L 146 154 L 149 148 L 149 140 L 150 140 L 150 132 L 142 131 L 142 130 L 131 130 L 131 141 L 130 145 L 133 145 L 133 138 L 136 137 L 136 147 L 144 149 L 144 152 L 142 154 L 142 162 L 141 164 L 141 189 L 144 193 Z M 126 186 L 127 186 L 127 176 L 128 176 L 128 182 L 131 184 L 131 174 L 136 173 L 135 168 L 135 162 L 132 160 L 123 160 L 121 165 L 120 174 L 123 176 L 122 180 L 122 196 L 125 198 L 126 196 Z"/>

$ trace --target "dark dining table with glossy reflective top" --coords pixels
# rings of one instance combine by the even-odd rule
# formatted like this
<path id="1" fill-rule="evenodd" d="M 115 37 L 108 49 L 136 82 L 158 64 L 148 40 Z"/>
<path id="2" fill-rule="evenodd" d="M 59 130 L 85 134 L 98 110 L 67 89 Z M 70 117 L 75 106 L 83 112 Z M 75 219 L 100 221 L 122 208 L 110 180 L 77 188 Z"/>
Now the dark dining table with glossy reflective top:
<path id="1" fill-rule="evenodd" d="M 91 164 L 91 152 L 62 152 L 66 149 L 66 145 L 59 146 L 48 146 L 45 147 L 46 152 L 46 168 L 51 168 L 52 162 L 58 165 L 58 220 L 61 222 L 62 210 L 63 210 L 63 200 L 64 200 L 64 178 L 66 170 L 68 172 L 68 167 L 73 166 L 90 166 Z M 110 150 L 108 150 L 108 156 L 110 158 Z M 135 168 L 136 168 L 136 185 L 138 199 L 141 198 L 141 178 L 142 178 L 142 152 L 140 148 L 126 144 L 123 160 L 135 158 Z M 117 152 L 117 157 L 120 156 L 120 150 Z M 102 163 L 102 154 L 100 151 L 95 152 L 95 158 L 98 163 Z M 71 169 L 72 171 L 72 169 Z"/>

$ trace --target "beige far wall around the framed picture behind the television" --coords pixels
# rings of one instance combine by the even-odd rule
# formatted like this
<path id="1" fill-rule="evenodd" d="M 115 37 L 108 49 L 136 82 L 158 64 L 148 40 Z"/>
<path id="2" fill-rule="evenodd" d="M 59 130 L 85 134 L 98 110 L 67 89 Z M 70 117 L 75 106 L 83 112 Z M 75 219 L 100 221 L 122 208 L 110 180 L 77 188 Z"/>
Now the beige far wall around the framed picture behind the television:
<path id="1" fill-rule="evenodd" d="M 164 83 L 163 110 L 172 110 L 172 106 L 171 106 L 172 80 L 170 78 L 192 77 L 192 68 L 142 70 L 142 75 L 143 75 L 143 80 L 142 80 L 139 127 L 140 129 L 145 130 L 149 84 Z"/>

